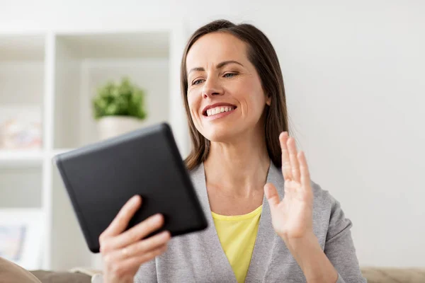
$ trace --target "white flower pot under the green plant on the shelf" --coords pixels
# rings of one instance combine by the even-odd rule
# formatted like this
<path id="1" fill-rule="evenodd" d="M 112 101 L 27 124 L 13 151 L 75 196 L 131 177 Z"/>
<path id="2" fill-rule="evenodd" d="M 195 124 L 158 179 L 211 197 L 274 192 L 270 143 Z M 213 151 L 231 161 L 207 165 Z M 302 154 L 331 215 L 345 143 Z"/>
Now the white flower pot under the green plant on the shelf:
<path id="1" fill-rule="evenodd" d="M 140 129 L 143 122 L 135 117 L 128 116 L 106 116 L 97 122 L 99 139 L 109 139 L 125 134 L 135 129 Z"/>

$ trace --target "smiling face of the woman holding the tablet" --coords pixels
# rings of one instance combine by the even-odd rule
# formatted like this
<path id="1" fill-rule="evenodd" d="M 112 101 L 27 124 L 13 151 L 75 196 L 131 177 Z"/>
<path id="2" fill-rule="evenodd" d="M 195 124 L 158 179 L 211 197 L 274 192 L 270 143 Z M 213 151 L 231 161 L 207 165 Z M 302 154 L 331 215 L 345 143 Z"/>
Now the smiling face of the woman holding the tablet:
<path id="1" fill-rule="evenodd" d="M 246 44 L 228 33 L 200 37 L 186 57 L 188 105 L 196 129 L 210 141 L 231 141 L 261 130 L 270 105 Z"/>

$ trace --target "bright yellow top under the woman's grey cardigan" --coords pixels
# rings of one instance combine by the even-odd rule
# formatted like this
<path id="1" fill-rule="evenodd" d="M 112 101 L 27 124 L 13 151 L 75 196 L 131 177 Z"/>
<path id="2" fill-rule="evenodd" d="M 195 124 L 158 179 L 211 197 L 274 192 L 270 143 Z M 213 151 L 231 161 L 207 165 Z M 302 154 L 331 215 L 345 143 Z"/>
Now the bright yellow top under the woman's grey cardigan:
<path id="1" fill-rule="evenodd" d="M 245 282 L 256 240 L 261 210 L 244 215 L 225 216 L 212 213 L 215 229 L 238 283 Z"/>

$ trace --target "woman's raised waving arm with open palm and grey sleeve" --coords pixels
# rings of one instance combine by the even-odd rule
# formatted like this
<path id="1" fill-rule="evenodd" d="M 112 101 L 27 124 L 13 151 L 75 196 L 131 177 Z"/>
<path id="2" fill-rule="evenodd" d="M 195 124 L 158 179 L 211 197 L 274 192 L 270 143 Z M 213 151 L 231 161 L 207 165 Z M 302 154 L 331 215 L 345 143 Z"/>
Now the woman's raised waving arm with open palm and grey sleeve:
<path id="1" fill-rule="evenodd" d="M 345 219 L 339 203 L 330 195 L 327 241 L 322 250 L 313 233 L 314 195 L 307 160 L 302 151 L 297 152 L 295 140 L 287 132 L 281 133 L 279 139 L 285 181 L 283 200 L 273 184 L 264 186 L 276 233 L 300 265 L 307 282 L 365 282 L 351 239 L 351 221 Z"/>

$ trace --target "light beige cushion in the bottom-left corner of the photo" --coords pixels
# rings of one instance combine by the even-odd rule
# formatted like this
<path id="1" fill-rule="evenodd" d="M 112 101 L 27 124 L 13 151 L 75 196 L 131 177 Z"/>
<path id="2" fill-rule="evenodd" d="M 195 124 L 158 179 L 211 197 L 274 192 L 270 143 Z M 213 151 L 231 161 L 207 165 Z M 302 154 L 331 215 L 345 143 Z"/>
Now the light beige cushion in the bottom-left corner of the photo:
<path id="1" fill-rule="evenodd" d="M 1 283 L 41 283 L 31 272 L 4 258 L 0 258 L 0 278 Z"/>

